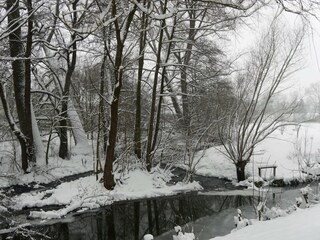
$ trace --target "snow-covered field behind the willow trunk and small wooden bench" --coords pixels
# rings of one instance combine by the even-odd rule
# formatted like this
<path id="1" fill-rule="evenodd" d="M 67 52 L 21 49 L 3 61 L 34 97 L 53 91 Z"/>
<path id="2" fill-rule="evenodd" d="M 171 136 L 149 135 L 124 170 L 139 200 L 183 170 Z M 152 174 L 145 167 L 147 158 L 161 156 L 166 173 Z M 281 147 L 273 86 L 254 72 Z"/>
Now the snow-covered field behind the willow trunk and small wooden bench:
<path id="1" fill-rule="evenodd" d="M 235 166 L 223 154 L 221 146 L 213 147 L 199 153 L 201 160 L 196 166 L 196 172 L 205 176 L 236 178 Z M 276 165 L 276 177 L 284 180 L 304 179 L 310 162 L 310 172 L 319 170 L 320 162 L 320 124 L 304 123 L 288 125 L 276 130 L 271 136 L 261 142 L 254 153 L 252 161 L 246 166 L 248 176 L 258 175 L 259 166 Z M 271 170 L 263 170 L 263 177 L 272 176 Z"/>

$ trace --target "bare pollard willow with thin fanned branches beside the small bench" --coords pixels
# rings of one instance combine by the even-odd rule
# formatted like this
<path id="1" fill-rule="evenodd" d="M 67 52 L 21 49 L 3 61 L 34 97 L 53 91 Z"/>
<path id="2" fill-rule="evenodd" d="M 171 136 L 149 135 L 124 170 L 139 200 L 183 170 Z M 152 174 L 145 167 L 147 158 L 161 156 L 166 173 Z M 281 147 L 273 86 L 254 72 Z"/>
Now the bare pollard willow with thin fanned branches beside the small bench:
<path id="1" fill-rule="evenodd" d="M 245 179 L 245 167 L 255 147 L 285 124 L 284 118 L 293 110 L 292 105 L 276 112 L 269 107 L 281 83 L 299 67 L 297 54 L 302 38 L 300 30 L 285 40 L 272 25 L 251 53 L 244 72 L 236 78 L 236 101 L 220 123 L 219 136 L 225 155 L 236 167 L 238 181 Z"/>

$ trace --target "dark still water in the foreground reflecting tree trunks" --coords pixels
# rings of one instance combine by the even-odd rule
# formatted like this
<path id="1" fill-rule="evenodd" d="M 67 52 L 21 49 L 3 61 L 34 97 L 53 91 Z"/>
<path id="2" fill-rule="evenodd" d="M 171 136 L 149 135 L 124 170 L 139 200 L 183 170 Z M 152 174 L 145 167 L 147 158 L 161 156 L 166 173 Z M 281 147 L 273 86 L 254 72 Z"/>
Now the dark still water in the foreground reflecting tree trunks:
<path id="1" fill-rule="evenodd" d="M 38 223 L 2 234 L 0 239 L 139 240 L 151 233 L 161 235 L 156 239 L 170 240 L 172 232 L 168 231 L 176 225 L 187 232 L 194 231 L 198 239 L 208 239 L 227 234 L 233 228 L 235 209 L 239 206 L 252 209 L 251 205 L 251 197 L 197 194 L 130 201 L 71 214 L 58 222 Z M 219 223 L 225 226 L 223 231 Z M 216 230 L 208 232 L 205 228 Z"/>

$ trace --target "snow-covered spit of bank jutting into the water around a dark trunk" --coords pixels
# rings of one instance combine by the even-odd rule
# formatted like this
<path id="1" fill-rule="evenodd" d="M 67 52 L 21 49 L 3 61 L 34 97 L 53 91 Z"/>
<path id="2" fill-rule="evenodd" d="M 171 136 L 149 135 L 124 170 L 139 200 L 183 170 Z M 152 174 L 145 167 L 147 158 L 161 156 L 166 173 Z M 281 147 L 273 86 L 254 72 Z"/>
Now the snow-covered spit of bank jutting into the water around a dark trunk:
<path id="1" fill-rule="evenodd" d="M 168 185 L 171 172 L 155 167 L 151 173 L 136 169 L 125 175 L 115 189 L 108 191 L 95 176 L 83 177 L 71 182 L 61 183 L 54 189 L 33 191 L 15 196 L 10 208 L 21 210 L 25 207 L 44 207 L 61 205 L 62 209 L 53 211 L 31 211 L 31 218 L 61 218 L 71 211 L 98 208 L 115 201 L 173 195 L 182 191 L 197 191 L 202 187 L 198 182 Z"/>

